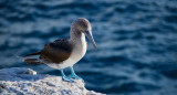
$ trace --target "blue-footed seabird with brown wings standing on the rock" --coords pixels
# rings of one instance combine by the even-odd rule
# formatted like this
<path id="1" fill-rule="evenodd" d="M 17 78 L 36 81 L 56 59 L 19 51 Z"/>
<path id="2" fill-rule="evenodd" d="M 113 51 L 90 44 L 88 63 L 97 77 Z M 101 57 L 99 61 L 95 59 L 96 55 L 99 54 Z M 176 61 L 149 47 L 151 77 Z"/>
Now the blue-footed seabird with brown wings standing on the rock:
<path id="1" fill-rule="evenodd" d="M 43 50 L 24 55 L 23 62 L 29 65 L 46 64 L 53 68 L 60 70 L 62 80 L 65 82 L 74 82 L 74 80 L 82 80 L 79 77 L 73 68 L 86 53 L 87 42 L 85 36 L 92 43 L 93 48 L 97 50 L 95 41 L 92 35 L 92 27 L 87 19 L 77 18 L 70 28 L 70 39 L 59 39 L 53 42 L 44 44 Z M 29 57 L 38 55 L 38 57 Z M 71 74 L 66 76 L 64 68 L 70 67 Z"/>

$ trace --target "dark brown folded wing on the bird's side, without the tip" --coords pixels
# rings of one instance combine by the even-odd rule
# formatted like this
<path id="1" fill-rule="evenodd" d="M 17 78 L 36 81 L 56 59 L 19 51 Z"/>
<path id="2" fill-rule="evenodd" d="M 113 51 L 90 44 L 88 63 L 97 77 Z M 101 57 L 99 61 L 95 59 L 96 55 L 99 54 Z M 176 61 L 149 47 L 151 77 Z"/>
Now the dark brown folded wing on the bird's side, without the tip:
<path id="1" fill-rule="evenodd" d="M 67 39 L 56 40 L 45 44 L 41 51 L 40 59 L 44 59 L 51 63 L 60 63 L 69 59 L 72 52 L 72 44 Z"/>

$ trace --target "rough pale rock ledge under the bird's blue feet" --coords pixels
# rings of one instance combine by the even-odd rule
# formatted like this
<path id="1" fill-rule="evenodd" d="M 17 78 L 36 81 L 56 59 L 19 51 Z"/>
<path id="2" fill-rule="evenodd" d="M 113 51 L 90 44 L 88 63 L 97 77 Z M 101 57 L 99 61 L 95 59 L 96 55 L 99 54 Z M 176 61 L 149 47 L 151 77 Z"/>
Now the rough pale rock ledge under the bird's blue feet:
<path id="1" fill-rule="evenodd" d="M 81 80 L 63 82 L 61 76 L 41 75 L 25 67 L 0 70 L 0 95 L 103 95 L 87 91 Z"/>

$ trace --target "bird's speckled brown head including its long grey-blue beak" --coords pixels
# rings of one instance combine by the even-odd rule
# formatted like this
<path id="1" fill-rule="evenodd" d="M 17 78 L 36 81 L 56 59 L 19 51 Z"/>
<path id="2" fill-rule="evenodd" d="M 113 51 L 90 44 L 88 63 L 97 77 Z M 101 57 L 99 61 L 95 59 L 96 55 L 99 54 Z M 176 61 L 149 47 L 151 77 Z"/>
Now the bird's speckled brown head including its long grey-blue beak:
<path id="1" fill-rule="evenodd" d="M 84 18 L 76 19 L 71 27 L 71 30 L 75 31 L 76 33 L 84 33 L 95 50 L 97 50 L 95 41 L 92 35 L 92 27 L 88 20 Z"/>

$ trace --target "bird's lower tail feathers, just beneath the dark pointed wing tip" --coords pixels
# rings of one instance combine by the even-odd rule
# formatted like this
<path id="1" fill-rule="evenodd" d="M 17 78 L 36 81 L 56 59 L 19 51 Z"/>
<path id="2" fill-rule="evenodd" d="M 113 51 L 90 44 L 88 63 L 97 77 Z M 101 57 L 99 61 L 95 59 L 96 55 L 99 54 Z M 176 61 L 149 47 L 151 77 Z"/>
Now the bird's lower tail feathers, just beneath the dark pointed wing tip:
<path id="1" fill-rule="evenodd" d="M 43 64 L 39 59 L 31 59 L 31 57 L 25 57 L 23 62 L 27 62 L 29 65 Z"/>

